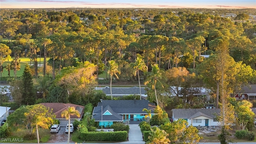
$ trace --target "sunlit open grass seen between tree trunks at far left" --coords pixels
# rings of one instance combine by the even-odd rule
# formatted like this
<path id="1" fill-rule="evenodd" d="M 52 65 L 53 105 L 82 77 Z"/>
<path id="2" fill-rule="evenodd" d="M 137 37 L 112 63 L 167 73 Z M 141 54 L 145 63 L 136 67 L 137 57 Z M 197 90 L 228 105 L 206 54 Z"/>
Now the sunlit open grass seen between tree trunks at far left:
<path id="1" fill-rule="evenodd" d="M 50 58 L 46 58 L 46 60 L 49 60 L 49 59 Z M 9 60 L 9 62 L 5 61 L 3 63 L 3 66 L 6 66 L 7 64 L 11 64 L 11 61 L 12 61 L 12 59 Z M 44 58 L 41 58 L 41 63 L 40 63 L 40 58 L 37 58 L 37 62 L 38 62 L 38 64 L 43 66 Z M 26 64 L 30 64 L 30 58 L 20 58 L 20 70 L 17 71 L 17 77 L 22 76 Z M 31 61 L 31 65 L 33 65 L 33 64 L 34 64 L 34 62 Z M 38 67 L 38 69 L 39 69 L 39 67 Z M 7 77 L 8 76 L 8 71 L 6 70 L 6 68 L 4 68 L 4 70 L 2 72 L 2 76 L 3 77 Z M 14 77 L 13 70 L 10 70 L 10 76 Z"/>

